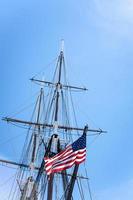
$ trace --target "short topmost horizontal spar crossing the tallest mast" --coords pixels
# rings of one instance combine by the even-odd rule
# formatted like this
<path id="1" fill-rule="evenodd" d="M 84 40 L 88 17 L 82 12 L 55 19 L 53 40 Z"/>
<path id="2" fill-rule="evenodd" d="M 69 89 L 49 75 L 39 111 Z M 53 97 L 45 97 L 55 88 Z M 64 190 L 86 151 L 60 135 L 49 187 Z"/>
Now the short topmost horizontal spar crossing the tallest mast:
<path id="1" fill-rule="evenodd" d="M 38 82 L 38 83 L 43 83 L 43 84 L 46 84 L 47 86 L 51 85 L 51 86 L 55 86 L 56 87 L 56 84 L 55 83 L 52 83 L 50 81 L 42 81 L 42 80 L 39 80 L 39 79 L 34 79 L 34 78 L 31 78 L 30 79 L 31 81 L 34 81 L 34 82 Z M 88 90 L 87 88 L 85 87 L 77 87 L 77 86 L 72 86 L 72 85 L 64 85 L 64 84 L 61 84 L 61 88 L 64 88 L 64 89 L 75 89 L 75 90 Z"/>

